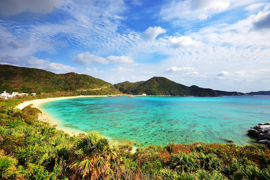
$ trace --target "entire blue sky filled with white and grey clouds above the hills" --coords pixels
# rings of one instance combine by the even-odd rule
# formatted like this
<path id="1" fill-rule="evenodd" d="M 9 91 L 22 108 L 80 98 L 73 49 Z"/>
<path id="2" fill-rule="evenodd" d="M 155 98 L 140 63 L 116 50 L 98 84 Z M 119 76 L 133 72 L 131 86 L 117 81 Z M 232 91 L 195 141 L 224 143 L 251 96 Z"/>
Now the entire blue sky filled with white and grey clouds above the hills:
<path id="1" fill-rule="evenodd" d="M 0 64 L 270 90 L 269 0 L 0 0 Z"/>

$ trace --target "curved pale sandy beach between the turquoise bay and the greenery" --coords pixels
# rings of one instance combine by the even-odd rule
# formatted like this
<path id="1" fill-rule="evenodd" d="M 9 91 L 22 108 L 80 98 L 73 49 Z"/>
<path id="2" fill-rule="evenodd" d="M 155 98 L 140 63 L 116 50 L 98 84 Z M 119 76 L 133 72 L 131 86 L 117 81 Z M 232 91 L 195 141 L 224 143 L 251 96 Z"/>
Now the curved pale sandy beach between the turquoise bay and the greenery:
<path id="1" fill-rule="evenodd" d="M 47 113 L 44 112 L 44 110 L 41 109 L 39 107 L 39 105 L 41 105 L 43 103 L 50 102 L 50 101 L 58 101 L 58 100 L 63 100 L 63 99 L 73 99 L 73 98 L 81 98 L 81 97 L 108 97 L 108 96 L 107 95 L 80 95 L 80 96 L 55 97 L 55 98 L 46 98 L 46 99 L 34 99 L 34 100 L 31 100 L 31 101 L 23 102 L 23 103 L 17 105 L 15 108 L 18 108 L 18 109 L 22 110 L 26 106 L 28 106 L 30 104 L 33 104 L 32 107 L 36 107 L 37 109 L 39 109 L 42 112 L 42 116 L 49 119 L 48 123 L 51 126 L 57 125 L 57 126 L 55 126 L 55 129 L 60 130 L 60 131 L 64 131 L 65 133 L 69 134 L 70 136 L 74 136 L 74 135 L 76 136 L 76 135 L 79 135 L 80 133 L 86 133 L 86 132 L 78 130 L 78 129 L 74 129 L 74 128 L 71 128 L 71 127 L 59 127 L 58 123 L 61 120 L 56 119 L 49 112 L 47 112 Z M 132 153 L 135 153 L 136 149 L 137 149 L 137 147 L 135 147 L 134 144 L 139 144 L 139 143 L 130 141 L 128 139 L 113 139 L 113 138 L 108 138 L 108 137 L 106 137 L 106 138 L 109 139 L 109 141 L 111 141 L 111 143 L 114 144 L 114 145 L 126 145 L 126 144 L 132 145 L 132 147 L 133 147 L 132 151 L 131 151 Z"/>

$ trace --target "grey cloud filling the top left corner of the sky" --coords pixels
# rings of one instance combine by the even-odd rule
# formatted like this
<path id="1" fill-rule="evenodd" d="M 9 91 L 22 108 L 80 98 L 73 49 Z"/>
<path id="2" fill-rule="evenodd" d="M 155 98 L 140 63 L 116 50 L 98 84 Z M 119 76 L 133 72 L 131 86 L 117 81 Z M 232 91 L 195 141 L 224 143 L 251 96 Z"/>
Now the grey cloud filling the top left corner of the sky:
<path id="1" fill-rule="evenodd" d="M 24 11 L 46 14 L 61 7 L 64 0 L 3 0 L 0 1 L 0 15 L 15 15 Z"/>

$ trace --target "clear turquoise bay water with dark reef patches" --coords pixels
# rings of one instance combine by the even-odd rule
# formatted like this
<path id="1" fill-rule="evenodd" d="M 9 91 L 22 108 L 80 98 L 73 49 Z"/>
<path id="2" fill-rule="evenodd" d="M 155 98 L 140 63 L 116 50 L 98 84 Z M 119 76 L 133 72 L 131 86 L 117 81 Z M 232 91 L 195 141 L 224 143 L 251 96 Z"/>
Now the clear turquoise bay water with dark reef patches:
<path id="1" fill-rule="evenodd" d="M 143 145 L 252 143 L 250 127 L 270 121 L 270 96 L 82 97 L 51 101 L 40 108 L 59 127 L 95 130 L 109 138 Z"/>

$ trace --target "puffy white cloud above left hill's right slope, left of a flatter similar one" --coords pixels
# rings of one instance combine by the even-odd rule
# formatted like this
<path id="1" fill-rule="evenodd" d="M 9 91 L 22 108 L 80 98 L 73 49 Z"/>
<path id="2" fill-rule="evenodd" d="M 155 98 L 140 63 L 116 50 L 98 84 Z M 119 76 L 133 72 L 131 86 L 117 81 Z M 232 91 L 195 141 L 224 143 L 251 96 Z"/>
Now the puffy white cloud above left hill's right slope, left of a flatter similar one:
<path id="1" fill-rule="evenodd" d="M 88 66 L 90 64 L 109 64 L 109 61 L 105 58 L 95 56 L 89 52 L 77 54 L 72 58 L 72 61 L 83 66 Z"/>

